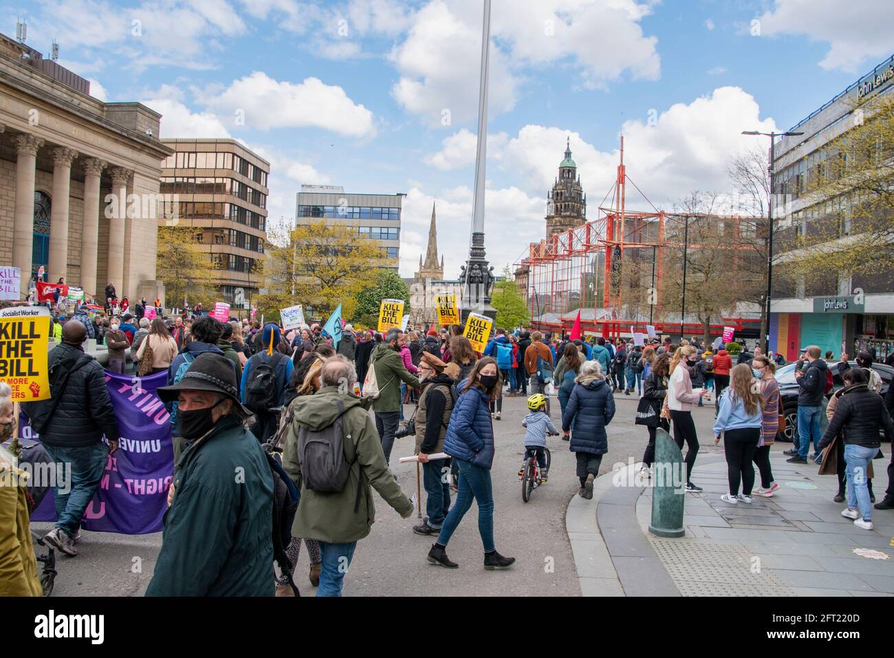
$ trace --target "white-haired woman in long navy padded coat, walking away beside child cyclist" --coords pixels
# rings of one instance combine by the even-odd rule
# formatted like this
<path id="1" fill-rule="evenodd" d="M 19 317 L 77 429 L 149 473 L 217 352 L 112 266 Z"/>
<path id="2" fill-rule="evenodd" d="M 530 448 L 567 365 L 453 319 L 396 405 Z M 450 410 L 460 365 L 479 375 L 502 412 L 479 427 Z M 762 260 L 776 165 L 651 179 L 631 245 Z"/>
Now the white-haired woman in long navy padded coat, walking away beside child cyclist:
<path id="1" fill-rule="evenodd" d="M 569 449 L 578 457 L 578 495 L 589 500 L 593 498 L 593 481 L 599 474 L 599 465 L 609 449 L 605 426 L 614 417 L 614 397 L 598 361 L 586 361 L 575 381 L 577 385 L 561 416 L 561 429 L 568 433 L 573 423 Z"/>

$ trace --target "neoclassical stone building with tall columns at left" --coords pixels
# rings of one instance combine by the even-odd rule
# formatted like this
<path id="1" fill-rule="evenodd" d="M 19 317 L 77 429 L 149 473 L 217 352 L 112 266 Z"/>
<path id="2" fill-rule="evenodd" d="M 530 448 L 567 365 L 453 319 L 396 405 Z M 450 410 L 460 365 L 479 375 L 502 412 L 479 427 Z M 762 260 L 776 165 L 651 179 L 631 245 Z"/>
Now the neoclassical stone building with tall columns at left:
<path id="1" fill-rule="evenodd" d="M 40 266 L 89 295 L 161 297 L 156 280 L 161 115 L 104 103 L 89 82 L 0 35 L 0 264 Z"/>

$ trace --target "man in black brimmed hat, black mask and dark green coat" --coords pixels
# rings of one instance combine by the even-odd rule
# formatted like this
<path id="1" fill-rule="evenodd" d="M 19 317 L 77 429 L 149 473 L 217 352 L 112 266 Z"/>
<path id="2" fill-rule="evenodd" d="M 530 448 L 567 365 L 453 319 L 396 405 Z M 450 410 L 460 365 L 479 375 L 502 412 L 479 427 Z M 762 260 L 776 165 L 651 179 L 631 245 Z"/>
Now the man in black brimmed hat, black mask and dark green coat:
<path id="1" fill-rule="evenodd" d="M 162 551 L 147 596 L 273 596 L 274 481 L 223 355 L 198 355 L 173 386 L 187 440 L 164 517 Z"/>

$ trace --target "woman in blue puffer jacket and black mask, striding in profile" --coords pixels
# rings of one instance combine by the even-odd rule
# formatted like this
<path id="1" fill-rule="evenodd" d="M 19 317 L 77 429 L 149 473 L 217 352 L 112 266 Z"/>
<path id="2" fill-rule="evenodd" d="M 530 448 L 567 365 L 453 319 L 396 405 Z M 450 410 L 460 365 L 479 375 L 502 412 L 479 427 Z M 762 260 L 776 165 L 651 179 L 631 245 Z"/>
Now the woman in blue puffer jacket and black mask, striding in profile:
<path id="1" fill-rule="evenodd" d="M 447 557 L 447 543 L 462 517 L 478 504 L 478 533 L 485 547 L 485 569 L 508 568 L 515 558 L 504 558 L 493 545 L 493 422 L 490 402 L 502 387 L 497 362 L 485 356 L 475 364 L 468 379 L 457 387 L 460 397 L 456 401 L 447 433 L 444 436 L 444 452 L 460 466 L 460 483 L 456 502 L 453 504 L 437 541 L 428 551 L 428 561 L 446 568 L 457 568 L 456 562 Z"/>

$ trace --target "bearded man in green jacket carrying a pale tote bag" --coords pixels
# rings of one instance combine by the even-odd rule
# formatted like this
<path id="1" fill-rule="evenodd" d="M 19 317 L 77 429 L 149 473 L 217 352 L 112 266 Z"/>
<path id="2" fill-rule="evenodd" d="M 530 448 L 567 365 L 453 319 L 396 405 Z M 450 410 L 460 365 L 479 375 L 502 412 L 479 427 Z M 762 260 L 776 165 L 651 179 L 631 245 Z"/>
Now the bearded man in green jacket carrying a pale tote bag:
<path id="1" fill-rule="evenodd" d="M 401 359 L 402 333 L 400 329 L 389 330 L 369 357 L 370 365 L 375 368 L 375 383 L 379 387 L 379 397 L 373 401 L 375 429 L 382 439 L 386 462 L 391 460 L 394 433 L 401 418 L 401 381 L 414 389 L 420 386 L 419 380 L 407 370 Z"/>

